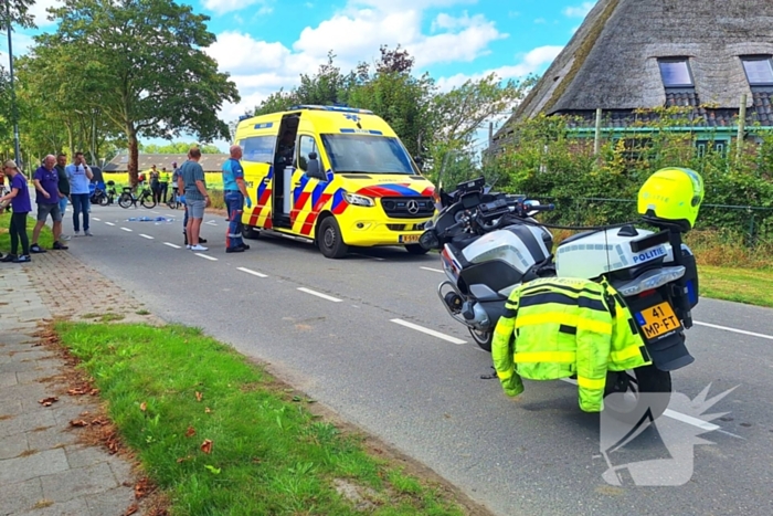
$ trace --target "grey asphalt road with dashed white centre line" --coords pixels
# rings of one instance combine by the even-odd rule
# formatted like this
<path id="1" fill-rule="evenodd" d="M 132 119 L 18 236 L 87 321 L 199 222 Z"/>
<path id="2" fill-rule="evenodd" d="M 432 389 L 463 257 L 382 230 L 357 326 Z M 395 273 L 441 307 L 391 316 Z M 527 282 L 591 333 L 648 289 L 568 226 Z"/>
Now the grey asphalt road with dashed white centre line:
<path id="1" fill-rule="evenodd" d="M 773 310 L 701 299 L 688 334 L 696 362 L 674 385 L 690 399 L 709 385 L 710 396 L 737 387 L 708 410 L 728 412 L 701 435 L 714 444 L 695 446 L 684 485 L 617 487 L 602 478 L 599 417 L 579 410 L 573 386 L 528 382 L 511 400 L 480 378 L 490 357 L 441 306 L 436 256 L 384 248 L 331 261 L 268 238 L 225 254 L 225 221 L 210 214 L 202 234 L 211 251 L 195 254 L 179 249 L 182 212 L 155 211 L 94 207 L 95 236 L 73 239 L 70 252 L 161 317 L 269 362 L 496 514 L 773 514 Z M 126 220 L 159 214 L 177 220 Z M 664 421 L 689 439 L 706 427 L 699 415 Z M 668 457 L 652 442 L 633 449 L 615 465 Z"/>

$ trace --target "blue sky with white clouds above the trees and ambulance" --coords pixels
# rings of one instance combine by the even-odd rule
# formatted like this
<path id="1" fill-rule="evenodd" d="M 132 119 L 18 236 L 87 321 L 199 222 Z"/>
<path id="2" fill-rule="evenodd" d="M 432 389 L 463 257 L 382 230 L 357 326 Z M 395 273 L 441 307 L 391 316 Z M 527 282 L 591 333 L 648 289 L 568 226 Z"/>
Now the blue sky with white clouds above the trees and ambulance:
<path id="1" fill-rule="evenodd" d="M 42 31 L 54 29 L 38 0 Z M 186 0 L 208 14 L 218 42 L 208 49 L 232 75 L 242 96 L 221 116 L 231 120 L 300 73 L 314 73 L 332 50 L 350 70 L 378 59 L 379 46 L 400 43 L 445 89 L 496 72 L 519 78 L 544 72 L 595 0 Z M 14 33 L 14 54 L 33 32 Z M 0 64 L 7 66 L 6 38 Z"/>

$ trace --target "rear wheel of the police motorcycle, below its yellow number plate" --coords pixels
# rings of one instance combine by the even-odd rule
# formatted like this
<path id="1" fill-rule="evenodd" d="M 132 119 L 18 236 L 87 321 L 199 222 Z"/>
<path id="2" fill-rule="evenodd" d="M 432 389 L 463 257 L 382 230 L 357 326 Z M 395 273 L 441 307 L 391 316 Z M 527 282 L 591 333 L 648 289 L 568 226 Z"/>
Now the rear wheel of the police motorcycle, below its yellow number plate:
<path id="1" fill-rule="evenodd" d="M 671 373 L 655 366 L 610 371 L 606 373 L 604 412 L 628 424 L 638 423 L 649 412 L 647 419 L 654 421 L 668 408 L 671 390 Z"/>

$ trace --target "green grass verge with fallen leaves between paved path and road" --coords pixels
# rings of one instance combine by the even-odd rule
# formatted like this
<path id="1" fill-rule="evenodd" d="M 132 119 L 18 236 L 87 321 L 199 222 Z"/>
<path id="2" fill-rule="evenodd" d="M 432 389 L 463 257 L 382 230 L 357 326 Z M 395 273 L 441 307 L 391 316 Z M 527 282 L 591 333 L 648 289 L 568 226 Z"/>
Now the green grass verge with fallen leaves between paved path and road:
<path id="1" fill-rule="evenodd" d="M 362 514 L 336 491 L 342 481 L 358 486 L 368 514 L 464 514 L 446 491 L 368 454 L 361 438 L 313 414 L 311 400 L 197 329 L 60 323 L 56 331 L 173 515 Z"/>

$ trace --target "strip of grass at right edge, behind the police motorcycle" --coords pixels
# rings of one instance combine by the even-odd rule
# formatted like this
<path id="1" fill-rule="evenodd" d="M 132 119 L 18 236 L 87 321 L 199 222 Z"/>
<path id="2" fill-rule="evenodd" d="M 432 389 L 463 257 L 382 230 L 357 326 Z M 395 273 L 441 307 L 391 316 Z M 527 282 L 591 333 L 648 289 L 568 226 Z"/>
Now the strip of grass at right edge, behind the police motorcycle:
<path id="1" fill-rule="evenodd" d="M 731 268 L 700 265 L 700 294 L 773 308 L 773 268 Z"/>

